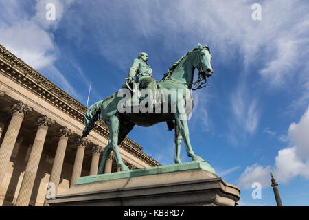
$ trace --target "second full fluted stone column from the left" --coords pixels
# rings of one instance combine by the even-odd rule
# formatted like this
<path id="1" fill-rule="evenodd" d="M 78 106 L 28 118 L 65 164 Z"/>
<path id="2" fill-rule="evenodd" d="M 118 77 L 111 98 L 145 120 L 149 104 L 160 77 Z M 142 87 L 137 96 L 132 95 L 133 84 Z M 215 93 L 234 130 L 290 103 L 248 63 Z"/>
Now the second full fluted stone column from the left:
<path id="1" fill-rule="evenodd" d="M 49 126 L 54 123 L 54 120 L 47 118 L 47 116 L 45 115 L 41 118 L 38 118 L 38 131 L 36 132 L 36 137 L 34 138 L 30 157 L 27 163 L 27 167 L 25 169 L 25 174 L 23 175 L 23 181 L 21 182 L 21 189 L 19 190 L 19 196 L 16 200 L 16 206 L 29 205 L 47 130 Z"/>

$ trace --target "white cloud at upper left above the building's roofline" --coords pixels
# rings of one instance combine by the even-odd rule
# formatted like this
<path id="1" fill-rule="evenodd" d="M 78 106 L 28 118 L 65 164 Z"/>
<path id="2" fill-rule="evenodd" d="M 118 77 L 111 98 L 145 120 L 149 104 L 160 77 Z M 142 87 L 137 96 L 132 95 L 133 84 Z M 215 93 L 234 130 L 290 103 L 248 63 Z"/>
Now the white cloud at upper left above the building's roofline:
<path id="1" fill-rule="evenodd" d="M 4 8 L 0 15 L 0 43 L 21 58 L 27 65 L 37 70 L 46 70 L 43 74 L 68 94 L 79 98 L 66 77 L 56 68 L 54 62 L 59 57 L 54 42 L 54 34 L 49 29 L 56 29 L 67 7 L 72 1 L 41 0 L 36 1 L 35 14 L 28 11 L 29 6 L 21 1 L 9 1 L 0 6 Z M 54 3 L 56 20 L 47 21 L 45 6 Z"/>

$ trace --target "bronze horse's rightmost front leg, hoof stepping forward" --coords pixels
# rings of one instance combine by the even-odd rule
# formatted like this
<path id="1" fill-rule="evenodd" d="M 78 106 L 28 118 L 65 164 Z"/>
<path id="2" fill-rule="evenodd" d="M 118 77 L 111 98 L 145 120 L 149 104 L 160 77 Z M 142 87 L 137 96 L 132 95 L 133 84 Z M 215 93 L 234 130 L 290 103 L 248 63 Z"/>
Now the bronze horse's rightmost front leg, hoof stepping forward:
<path id="1" fill-rule="evenodd" d="M 185 141 L 185 149 L 187 150 L 187 156 L 191 157 L 193 161 L 204 161 L 202 157 L 195 155 L 189 138 L 189 128 L 187 126 L 187 120 L 183 120 L 180 113 L 175 113 L 176 124 L 179 126 L 179 130 Z"/>

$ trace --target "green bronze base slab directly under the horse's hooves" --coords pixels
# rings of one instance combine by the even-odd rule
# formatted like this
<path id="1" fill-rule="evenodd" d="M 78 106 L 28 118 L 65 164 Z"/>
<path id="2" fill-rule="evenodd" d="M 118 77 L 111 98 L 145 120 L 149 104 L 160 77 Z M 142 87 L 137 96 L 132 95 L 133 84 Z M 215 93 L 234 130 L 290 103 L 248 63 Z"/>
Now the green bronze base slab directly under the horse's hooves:
<path id="1" fill-rule="evenodd" d="M 173 173 L 185 170 L 205 170 L 211 173 L 215 173 L 214 168 L 212 168 L 206 162 L 185 162 L 181 164 L 172 164 L 172 165 L 165 165 L 165 166 L 155 166 L 151 168 L 144 168 L 138 170 L 130 170 L 124 172 L 115 172 L 115 173 L 106 173 L 104 175 L 93 175 L 87 177 L 81 177 L 76 181 L 76 185 L 80 184 L 91 184 L 99 181 L 109 181 L 114 179 L 126 179 L 131 177 L 142 177 L 148 175 L 156 175 L 162 173 Z"/>

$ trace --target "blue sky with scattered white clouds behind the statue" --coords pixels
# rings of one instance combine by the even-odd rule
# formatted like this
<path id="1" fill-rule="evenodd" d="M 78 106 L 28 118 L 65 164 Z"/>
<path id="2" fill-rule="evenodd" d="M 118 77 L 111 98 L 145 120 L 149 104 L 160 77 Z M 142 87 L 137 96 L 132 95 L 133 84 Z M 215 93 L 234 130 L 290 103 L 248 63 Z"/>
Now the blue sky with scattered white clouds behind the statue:
<path id="1" fill-rule="evenodd" d="M 45 6 L 54 3 L 56 19 Z M 260 3 L 262 20 L 253 20 Z M 214 75 L 194 91 L 192 147 L 242 190 L 241 206 L 309 206 L 308 1 L 0 0 L 0 43 L 86 105 L 117 91 L 139 52 L 160 80 L 207 44 Z M 174 161 L 165 123 L 128 135 L 161 164 Z M 190 161 L 182 146 L 181 159 Z M 253 182 L 262 198 L 253 199 Z"/>

